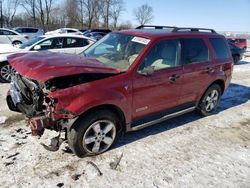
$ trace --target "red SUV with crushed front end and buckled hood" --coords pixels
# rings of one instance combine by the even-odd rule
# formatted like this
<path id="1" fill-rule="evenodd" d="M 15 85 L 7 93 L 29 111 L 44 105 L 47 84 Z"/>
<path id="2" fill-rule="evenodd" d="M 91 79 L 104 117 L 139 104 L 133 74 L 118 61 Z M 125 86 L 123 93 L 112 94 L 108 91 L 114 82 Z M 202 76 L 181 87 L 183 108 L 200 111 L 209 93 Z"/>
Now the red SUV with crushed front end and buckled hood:
<path id="1" fill-rule="evenodd" d="M 227 89 L 233 60 L 211 29 L 147 26 L 113 32 L 81 56 L 16 54 L 10 110 L 30 119 L 33 135 L 65 132 L 74 153 L 107 151 L 136 131 L 198 110 L 212 114 Z"/>

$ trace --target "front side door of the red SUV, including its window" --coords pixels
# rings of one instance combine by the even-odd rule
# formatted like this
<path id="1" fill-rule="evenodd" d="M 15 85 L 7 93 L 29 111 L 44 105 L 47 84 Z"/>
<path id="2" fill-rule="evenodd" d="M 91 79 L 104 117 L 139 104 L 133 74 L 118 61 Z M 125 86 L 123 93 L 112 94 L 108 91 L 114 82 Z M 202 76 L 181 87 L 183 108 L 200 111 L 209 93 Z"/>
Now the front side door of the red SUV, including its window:
<path id="1" fill-rule="evenodd" d="M 163 40 L 142 60 L 133 78 L 133 120 L 167 112 L 179 104 L 182 76 L 179 48 L 179 40 Z M 150 67 L 154 72 L 143 75 Z"/>

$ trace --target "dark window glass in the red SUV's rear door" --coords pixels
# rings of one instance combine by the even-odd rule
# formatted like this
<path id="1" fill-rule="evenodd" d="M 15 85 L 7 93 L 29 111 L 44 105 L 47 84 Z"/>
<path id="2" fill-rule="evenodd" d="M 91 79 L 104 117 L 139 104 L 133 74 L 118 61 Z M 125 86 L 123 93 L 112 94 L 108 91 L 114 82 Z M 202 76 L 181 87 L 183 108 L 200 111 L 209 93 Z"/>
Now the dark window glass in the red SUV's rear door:
<path id="1" fill-rule="evenodd" d="M 208 48 L 202 39 L 182 39 L 181 45 L 183 64 L 209 61 Z"/>

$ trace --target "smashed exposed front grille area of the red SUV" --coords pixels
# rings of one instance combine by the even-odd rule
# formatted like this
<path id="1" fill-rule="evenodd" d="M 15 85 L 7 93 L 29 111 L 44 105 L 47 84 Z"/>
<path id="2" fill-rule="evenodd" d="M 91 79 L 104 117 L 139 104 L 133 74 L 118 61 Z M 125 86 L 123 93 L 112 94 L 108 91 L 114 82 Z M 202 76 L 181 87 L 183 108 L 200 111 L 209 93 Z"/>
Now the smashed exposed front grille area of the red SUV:
<path id="1" fill-rule="evenodd" d="M 44 94 L 35 81 L 16 74 L 10 84 L 10 96 L 14 106 L 27 117 L 43 113 Z"/>

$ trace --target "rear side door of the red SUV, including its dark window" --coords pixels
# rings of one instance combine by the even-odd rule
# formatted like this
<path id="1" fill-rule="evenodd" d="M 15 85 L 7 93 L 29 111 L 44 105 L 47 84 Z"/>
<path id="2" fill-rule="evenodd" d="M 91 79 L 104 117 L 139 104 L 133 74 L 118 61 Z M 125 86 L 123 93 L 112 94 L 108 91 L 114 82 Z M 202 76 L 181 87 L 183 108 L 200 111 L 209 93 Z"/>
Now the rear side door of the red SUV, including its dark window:
<path id="1" fill-rule="evenodd" d="M 204 91 L 214 78 L 214 64 L 206 39 L 182 38 L 181 51 L 183 84 L 180 103 L 191 107 L 199 100 L 201 91 Z"/>

